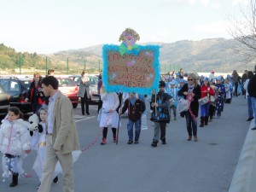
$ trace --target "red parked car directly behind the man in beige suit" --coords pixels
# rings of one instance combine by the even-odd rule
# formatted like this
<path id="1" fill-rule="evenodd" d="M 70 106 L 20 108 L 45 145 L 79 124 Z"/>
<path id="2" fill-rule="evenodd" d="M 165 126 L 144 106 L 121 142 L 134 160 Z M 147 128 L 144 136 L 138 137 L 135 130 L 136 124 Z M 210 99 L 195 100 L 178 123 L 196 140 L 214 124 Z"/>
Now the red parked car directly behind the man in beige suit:
<path id="1" fill-rule="evenodd" d="M 79 104 L 79 87 L 73 79 L 64 78 L 64 77 L 55 77 L 59 81 L 59 90 L 65 96 L 67 96 L 73 104 L 73 108 L 77 108 Z"/>

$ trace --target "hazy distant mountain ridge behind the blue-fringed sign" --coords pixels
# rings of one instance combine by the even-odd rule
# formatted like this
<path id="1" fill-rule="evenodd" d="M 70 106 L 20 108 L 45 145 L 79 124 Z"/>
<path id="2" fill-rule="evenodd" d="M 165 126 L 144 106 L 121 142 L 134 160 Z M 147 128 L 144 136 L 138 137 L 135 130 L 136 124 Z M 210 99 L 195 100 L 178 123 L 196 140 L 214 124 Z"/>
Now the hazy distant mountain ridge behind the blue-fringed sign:
<path id="1" fill-rule="evenodd" d="M 243 73 L 245 69 L 253 70 L 256 61 L 247 63 L 247 58 L 234 51 L 237 42 L 234 39 L 209 38 L 201 41 L 177 41 L 175 43 L 147 43 L 160 45 L 161 72 L 178 71 L 183 68 L 187 72 L 231 73 L 234 69 Z M 143 44 L 143 45 L 147 45 Z M 67 53 L 98 55 L 102 59 L 102 44 L 77 50 L 67 50 Z M 63 55 L 65 56 L 65 55 Z M 96 63 L 96 62 L 95 62 Z"/>

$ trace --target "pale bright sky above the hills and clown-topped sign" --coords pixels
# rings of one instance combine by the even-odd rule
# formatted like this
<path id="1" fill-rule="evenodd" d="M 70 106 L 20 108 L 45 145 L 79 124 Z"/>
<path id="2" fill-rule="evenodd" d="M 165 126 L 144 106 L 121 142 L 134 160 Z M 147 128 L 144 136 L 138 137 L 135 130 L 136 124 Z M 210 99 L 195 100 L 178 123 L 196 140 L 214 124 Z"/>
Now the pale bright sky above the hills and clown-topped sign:
<path id="1" fill-rule="evenodd" d="M 132 28 L 137 44 L 232 38 L 238 2 L 247 0 L 9 0 L 0 3 L 0 44 L 51 54 L 96 44 L 120 44 Z"/>

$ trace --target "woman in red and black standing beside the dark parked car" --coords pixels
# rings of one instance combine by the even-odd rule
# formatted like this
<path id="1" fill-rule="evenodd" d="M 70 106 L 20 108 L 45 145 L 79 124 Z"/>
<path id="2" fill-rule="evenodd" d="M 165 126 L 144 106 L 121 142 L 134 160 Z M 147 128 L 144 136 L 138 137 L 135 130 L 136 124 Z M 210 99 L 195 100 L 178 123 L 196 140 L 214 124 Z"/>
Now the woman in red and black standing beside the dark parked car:
<path id="1" fill-rule="evenodd" d="M 42 90 L 40 73 L 34 73 L 33 81 L 29 90 L 26 92 L 25 102 L 31 102 L 33 113 L 37 113 L 38 109 L 45 104 L 45 96 Z"/>

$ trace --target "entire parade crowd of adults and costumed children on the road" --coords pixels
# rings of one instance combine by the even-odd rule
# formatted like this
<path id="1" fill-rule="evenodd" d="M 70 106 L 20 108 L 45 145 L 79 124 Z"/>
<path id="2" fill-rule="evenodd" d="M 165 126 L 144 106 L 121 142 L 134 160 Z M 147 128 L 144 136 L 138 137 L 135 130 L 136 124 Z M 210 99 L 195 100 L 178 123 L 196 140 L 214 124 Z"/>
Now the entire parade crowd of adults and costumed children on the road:
<path id="1" fill-rule="evenodd" d="M 256 66 L 255 66 L 256 71 Z M 255 73 L 254 71 L 254 73 Z M 58 90 L 58 80 L 54 71 L 44 79 L 39 73 L 34 74 L 33 82 L 26 94 L 26 102 L 32 103 L 33 113 L 38 113 L 43 131 L 35 130 L 30 135 L 27 129 L 30 124 L 23 120 L 19 108 L 9 108 L 0 128 L 0 150 L 3 154 L 3 177 L 12 175 L 10 187 L 18 184 L 18 177 L 24 174 L 22 160 L 32 149 L 38 150 L 33 169 L 38 174 L 38 191 L 49 191 L 50 183 L 57 182 L 55 172 L 57 162 L 61 165 L 64 191 L 73 191 L 73 151 L 79 151 L 79 137 L 73 119 L 73 106 L 67 96 Z M 159 91 L 151 96 L 137 95 L 132 92 L 124 99 L 121 93 L 107 92 L 99 75 L 98 93 L 100 102 L 97 112 L 102 127 L 102 145 L 107 144 L 108 128 L 113 132 L 113 142 L 118 142 L 120 115 L 127 113 L 127 144 L 139 143 L 142 116 L 145 113 L 145 98 L 150 98 L 150 120 L 154 122 L 154 133 L 151 146 L 157 147 L 159 141 L 166 144 L 166 125 L 177 120 L 177 116 L 186 119 L 188 141 L 199 141 L 197 136 L 197 118 L 200 116 L 200 127 L 207 126 L 213 117 L 220 118 L 224 111 L 224 103 L 230 104 L 232 98 L 247 98 L 248 119 L 254 119 L 256 125 L 256 74 L 245 71 L 240 77 L 236 70 L 227 77 L 214 75 L 197 77 L 195 73 L 186 74 L 181 69 L 163 76 L 159 82 Z M 81 97 L 82 115 L 89 113 L 90 79 L 83 71 L 78 96 Z M 187 102 L 188 108 L 177 112 L 181 103 Z M 85 110 L 84 110 L 85 107 Z M 173 116 L 172 116 L 173 114 Z M 172 118 L 173 117 L 173 118 Z M 134 129 L 133 129 L 134 127 Z M 256 126 L 252 129 L 256 130 Z"/>

